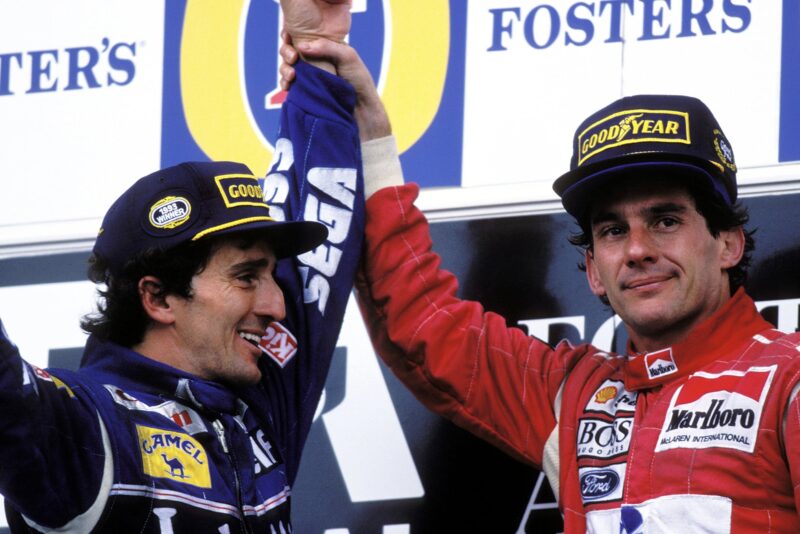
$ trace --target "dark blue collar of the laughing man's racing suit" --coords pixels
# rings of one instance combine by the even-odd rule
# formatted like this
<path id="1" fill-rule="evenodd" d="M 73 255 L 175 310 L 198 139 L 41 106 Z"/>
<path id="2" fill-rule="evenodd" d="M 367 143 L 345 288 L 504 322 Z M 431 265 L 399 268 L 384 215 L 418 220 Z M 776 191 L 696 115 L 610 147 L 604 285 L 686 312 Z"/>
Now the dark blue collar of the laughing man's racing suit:
<path id="1" fill-rule="evenodd" d="M 237 414 L 241 411 L 236 394 L 227 387 L 200 379 L 175 367 L 147 358 L 111 341 L 90 336 L 81 368 L 124 390 L 179 398 L 200 411 Z"/>

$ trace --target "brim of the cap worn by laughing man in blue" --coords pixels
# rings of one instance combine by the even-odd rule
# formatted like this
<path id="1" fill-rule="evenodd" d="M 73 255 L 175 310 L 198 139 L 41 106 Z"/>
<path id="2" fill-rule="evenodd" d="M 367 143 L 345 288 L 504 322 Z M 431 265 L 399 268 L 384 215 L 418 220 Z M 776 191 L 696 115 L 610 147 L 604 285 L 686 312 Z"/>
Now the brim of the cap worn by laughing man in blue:
<path id="1" fill-rule="evenodd" d="M 206 234 L 257 233 L 269 242 L 275 257 L 288 258 L 313 250 L 328 237 L 328 227 L 314 221 L 256 221 Z"/>

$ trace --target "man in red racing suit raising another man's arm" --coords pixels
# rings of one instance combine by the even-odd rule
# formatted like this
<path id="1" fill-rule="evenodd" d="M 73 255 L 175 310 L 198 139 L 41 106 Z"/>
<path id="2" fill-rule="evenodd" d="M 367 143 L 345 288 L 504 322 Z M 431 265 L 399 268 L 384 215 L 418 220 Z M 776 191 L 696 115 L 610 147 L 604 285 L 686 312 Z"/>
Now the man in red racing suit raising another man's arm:
<path id="1" fill-rule="evenodd" d="M 334 57 L 380 108 L 351 49 L 298 48 Z M 376 109 L 360 128 L 375 131 Z M 629 97 L 587 118 L 574 146 L 554 188 L 627 354 L 551 347 L 458 299 L 390 136 L 362 144 L 358 285 L 377 352 L 428 408 L 542 468 L 568 533 L 800 531 L 800 335 L 741 287 L 752 238 L 716 119 L 696 99 Z"/>

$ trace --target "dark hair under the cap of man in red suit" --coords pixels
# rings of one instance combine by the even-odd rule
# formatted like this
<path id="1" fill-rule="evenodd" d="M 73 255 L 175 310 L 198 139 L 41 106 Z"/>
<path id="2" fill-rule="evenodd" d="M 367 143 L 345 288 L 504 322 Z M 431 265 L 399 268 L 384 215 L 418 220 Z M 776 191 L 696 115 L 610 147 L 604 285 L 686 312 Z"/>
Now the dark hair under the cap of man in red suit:
<path id="1" fill-rule="evenodd" d="M 729 205 L 724 202 L 716 193 L 710 188 L 700 187 L 696 182 L 690 182 L 681 178 L 674 178 L 674 181 L 689 192 L 695 201 L 695 206 L 698 213 L 706 220 L 711 235 L 719 237 L 720 232 L 733 230 L 737 227 L 742 227 L 744 230 L 744 254 L 739 263 L 730 267 L 728 271 L 728 282 L 730 284 L 730 291 L 733 294 L 737 289 L 742 287 L 747 281 L 747 269 L 750 267 L 752 261 L 753 251 L 755 250 L 755 238 L 753 235 L 756 230 L 748 230 L 745 225 L 750 221 L 750 214 L 747 207 L 741 202 L 736 202 Z M 577 221 L 580 231 L 572 234 L 569 237 L 569 242 L 573 245 L 580 247 L 583 250 L 592 251 L 592 229 L 591 221 L 587 216 L 579 218 Z M 582 271 L 586 270 L 586 264 L 581 261 L 578 268 Z M 604 304 L 609 304 L 608 298 L 605 296 L 600 297 Z"/>

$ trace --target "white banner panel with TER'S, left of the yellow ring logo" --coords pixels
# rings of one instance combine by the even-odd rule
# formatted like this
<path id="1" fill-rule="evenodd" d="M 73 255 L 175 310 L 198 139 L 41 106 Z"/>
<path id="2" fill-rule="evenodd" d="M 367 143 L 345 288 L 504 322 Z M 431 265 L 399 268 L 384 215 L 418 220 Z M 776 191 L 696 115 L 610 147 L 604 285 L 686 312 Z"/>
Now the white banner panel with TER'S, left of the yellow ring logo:
<path id="1" fill-rule="evenodd" d="M 73 227 L 92 236 L 116 196 L 158 167 L 163 20 L 163 0 L 3 6 L 0 227 L 21 230 L 0 243 L 74 238 Z M 35 209 L 21 201 L 32 184 L 47 189 Z"/>

